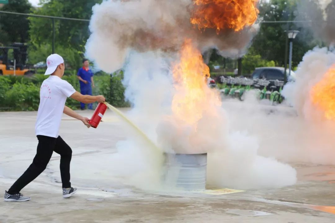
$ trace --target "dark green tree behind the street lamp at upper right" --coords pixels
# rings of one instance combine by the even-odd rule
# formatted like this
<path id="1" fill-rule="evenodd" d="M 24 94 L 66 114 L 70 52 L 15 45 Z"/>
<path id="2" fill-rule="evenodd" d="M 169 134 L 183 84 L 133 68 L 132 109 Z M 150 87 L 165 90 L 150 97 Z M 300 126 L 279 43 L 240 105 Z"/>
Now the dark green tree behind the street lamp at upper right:
<path id="1" fill-rule="evenodd" d="M 260 17 L 265 21 L 294 20 L 297 0 L 270 0 L 260 4 Z M 274 61 L 277 66 L 285 64 L 286 29 L 298 29 L 295 24 L 262 23 L 253 47 L 267 61 Z M 304 54 L 314 45 L 313 35 L 304 31 L 297 35 L 293 44 L 293 66 L 297 66 Z"/>

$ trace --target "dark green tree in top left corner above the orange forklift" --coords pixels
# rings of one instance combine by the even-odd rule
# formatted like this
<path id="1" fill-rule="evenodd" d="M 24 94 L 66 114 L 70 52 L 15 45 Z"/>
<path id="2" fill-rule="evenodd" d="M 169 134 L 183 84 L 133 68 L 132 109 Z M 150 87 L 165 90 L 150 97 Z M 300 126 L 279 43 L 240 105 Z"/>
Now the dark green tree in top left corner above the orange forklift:
<path id="1" fill-rule="evenodd" d="M 29 13 L 31 4 L 28 0 L 10 0 L 1 10 Z M 12 14 L 1 14 L 0 16 L 0 45 L 28 41 L 29 21 L 25 16 Z"/>

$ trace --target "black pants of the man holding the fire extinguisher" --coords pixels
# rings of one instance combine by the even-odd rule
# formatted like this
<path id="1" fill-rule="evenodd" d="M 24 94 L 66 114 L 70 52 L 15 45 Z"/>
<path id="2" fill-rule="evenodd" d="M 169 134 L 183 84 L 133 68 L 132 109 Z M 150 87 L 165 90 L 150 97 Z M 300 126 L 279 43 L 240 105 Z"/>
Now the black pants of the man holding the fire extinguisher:
<path id="1" fill-rule="evenodd" d="M 27 184 L 37 178 L 47 167 L 53 151 L 61 155 L 60 171 L 63 188 L 71 187 L 70 183 L 70 161 L 72 157 L 72 150 L 64 140 L 58 138 L 38 135 L 39 144 L 34 160 L 28 169 L 17 179 L 13 186 L 8 190 L 9 194 L 17 194 Z"/>

